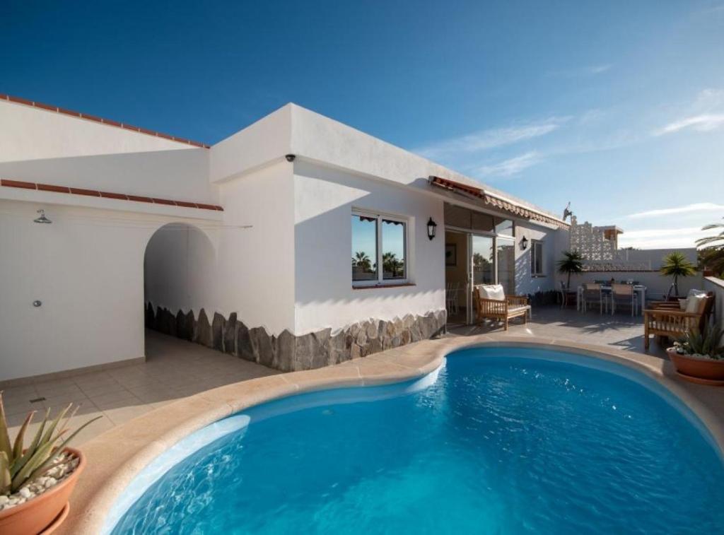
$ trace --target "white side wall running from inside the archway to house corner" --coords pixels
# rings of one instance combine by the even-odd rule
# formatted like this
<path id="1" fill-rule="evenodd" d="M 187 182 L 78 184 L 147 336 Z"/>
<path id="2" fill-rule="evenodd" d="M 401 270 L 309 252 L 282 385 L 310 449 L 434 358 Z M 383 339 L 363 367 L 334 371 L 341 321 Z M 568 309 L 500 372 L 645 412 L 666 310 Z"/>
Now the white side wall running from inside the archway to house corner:
<path id="1" fill-rule="evenodd" d="M 222 183 L 224 220 L 169 225 L 146 256 L 146 300 L 154 306 L 204 308 L 269 334 L 294 329 L 292 164 L 279 161 Z M 251 225 L 251 228 L 240 228 Z"/>

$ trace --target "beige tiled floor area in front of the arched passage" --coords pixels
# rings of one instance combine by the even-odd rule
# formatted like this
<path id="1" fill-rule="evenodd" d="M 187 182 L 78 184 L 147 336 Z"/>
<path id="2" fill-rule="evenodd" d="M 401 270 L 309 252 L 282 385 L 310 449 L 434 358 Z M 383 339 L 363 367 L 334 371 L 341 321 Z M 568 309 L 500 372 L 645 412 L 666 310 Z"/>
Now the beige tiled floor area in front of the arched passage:
<path id="1" fill-rule="evenodd" d="M 74 445 L 80 445 L 106 429 L 181 397 L 279 373 L 153 331 L 146 331 L 146 355 L 147 361 L 142 364 L 5 389 L 3 399 L 11 426 L 10 436 L 15 436 L 30 410 L 38 410 L 33 418 L 38 421 L 47 407 L 52 409 L 51 416 L 55 416 L 56 411 L 68 403 L 80 403 L 80 410 L 71 422 L 72 429 L 90 418 L 103 416 L 73 440 Z M 38 398 L 45 399 L 30 401 Z M 37 425 L 30 427 L 26 437 L 33 437 Z"/>

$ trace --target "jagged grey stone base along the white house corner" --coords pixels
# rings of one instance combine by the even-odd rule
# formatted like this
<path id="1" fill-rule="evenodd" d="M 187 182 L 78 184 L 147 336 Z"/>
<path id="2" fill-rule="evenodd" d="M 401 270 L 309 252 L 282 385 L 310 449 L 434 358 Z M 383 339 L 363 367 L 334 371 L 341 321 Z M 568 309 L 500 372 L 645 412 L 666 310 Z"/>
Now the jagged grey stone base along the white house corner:
<path id="1" fill-rule="evenodd" d="M 264 327 L 247 327 L 235 312 L 228 318 L 214 312 L 209 321 L 203 308 L 195 317 L 193 310 L 174 314 L 146 303 L 146 328 L 281 371 L 322 368 L 427 340 L 442 334 L 446 321 L 447 313 L 440 310 L 390 321 L 360 321 L 335 334 L 332 329 L 322 329 L 307 334 L 285 330 L 274 335 Z"/>

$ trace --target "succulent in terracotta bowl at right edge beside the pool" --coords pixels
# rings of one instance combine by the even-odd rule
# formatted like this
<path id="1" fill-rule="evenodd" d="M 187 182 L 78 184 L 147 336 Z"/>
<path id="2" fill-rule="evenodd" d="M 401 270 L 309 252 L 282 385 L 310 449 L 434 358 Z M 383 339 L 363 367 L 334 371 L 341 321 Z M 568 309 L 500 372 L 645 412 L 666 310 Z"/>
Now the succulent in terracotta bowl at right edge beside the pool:
<path id="1" fill-rule="evenodd" d="M 687 332 L 669 347 L 669 360 L 684 379 L 703 384 L 724 384 L 724 345 L 722 329 L 708 327 Z"/>

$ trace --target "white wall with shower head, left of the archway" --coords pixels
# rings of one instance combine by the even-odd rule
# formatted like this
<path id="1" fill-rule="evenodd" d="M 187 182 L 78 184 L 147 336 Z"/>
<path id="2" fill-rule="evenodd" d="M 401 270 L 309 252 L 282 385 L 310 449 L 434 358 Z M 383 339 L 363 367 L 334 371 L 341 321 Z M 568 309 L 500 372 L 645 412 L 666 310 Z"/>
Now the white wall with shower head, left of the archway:
<path id="1" fill-rule="evenodd" d="M 143 357 L 143 252 L 168 220 L 0 201 L 0 380 Z"/>

